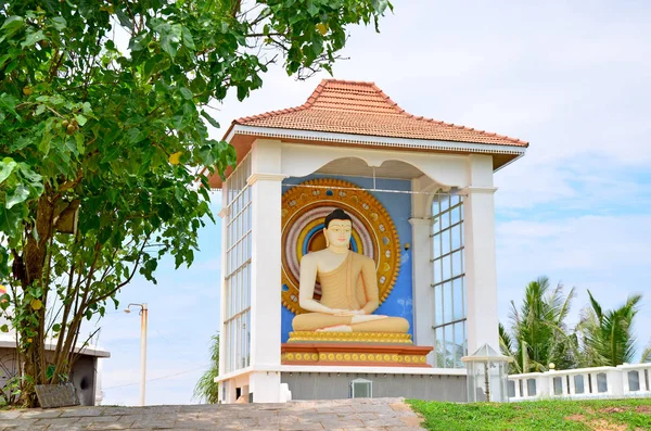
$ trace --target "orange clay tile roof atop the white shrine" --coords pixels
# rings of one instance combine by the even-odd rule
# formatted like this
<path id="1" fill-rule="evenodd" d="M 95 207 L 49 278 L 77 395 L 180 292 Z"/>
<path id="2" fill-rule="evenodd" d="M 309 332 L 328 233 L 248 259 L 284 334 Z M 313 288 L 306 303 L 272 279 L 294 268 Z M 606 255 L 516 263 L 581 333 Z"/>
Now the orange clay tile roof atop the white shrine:
<path id="1" fill-rule="evenodd" d="M 414 116 L 375 84 L 323 79 L 307 102 L 233 121 L 233 125 L 339 134 L 528 147 L 528 142 L 484 130 Z"/>

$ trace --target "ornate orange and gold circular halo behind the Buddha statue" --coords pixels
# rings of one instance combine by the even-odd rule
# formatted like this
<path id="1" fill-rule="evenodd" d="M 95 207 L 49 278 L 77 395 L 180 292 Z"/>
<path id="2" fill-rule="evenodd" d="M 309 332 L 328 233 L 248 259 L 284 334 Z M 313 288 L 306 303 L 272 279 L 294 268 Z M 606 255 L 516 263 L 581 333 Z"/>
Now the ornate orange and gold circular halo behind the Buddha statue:
<path id="1" fill-rule="evenodd" d="M 350 249 L 375 262 L 380 303 L 391 293 L 399 271 L 400 241 L 384 206 L 358 186 L 339 179 L 302 182 L 282 195 L 282 303 L 295 314 L 298 305 L 301 258 L 326 248 L 323 220 L 333 210 L 353 219 Z M 315 287 L 315 299 L 321 289 Z"/>

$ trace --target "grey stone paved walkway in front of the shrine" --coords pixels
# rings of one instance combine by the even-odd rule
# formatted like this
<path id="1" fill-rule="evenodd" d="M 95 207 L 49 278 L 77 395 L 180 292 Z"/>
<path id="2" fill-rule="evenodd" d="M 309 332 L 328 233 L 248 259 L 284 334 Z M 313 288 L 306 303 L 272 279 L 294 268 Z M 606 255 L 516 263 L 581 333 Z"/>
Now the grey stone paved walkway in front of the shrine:
<path id="1" fill-rule="evenodd" d="M 0 431 L 417 431 L 420 422 L 403 398 L 0 410 Z"/>

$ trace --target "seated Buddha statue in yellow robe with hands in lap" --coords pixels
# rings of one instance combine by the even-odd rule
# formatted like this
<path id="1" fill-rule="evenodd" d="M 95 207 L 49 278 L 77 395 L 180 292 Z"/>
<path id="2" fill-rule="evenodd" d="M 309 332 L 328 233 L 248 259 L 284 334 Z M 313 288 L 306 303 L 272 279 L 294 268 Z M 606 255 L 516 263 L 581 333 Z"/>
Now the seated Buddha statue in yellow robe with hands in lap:
<path id="1" fill-rule="evenodd" d="M 294 317 L 294 331 L 406 333 L 406 319 L 373 314 L 380 305 L 375 263 L 349 250 L 350 216 L 334 210 L 324 225 L 326 249 L 301 259 L 299 305 L 308 313 Z M 320 301 L 314 299 L 317 280 Z"/>

